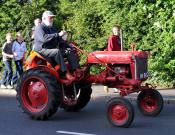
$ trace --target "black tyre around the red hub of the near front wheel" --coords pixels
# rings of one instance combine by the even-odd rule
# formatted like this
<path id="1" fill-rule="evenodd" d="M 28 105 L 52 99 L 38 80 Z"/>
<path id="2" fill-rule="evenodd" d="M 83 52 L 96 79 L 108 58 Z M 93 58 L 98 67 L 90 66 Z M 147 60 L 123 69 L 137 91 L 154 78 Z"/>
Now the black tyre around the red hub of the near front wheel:
<path id="1" fill-rule="evenodd" d="M 111 118 L 111 115 L 110 115 L 110 108 L 115 105 L 115 104 L 122 104 L 124 105 L 127 110 L 128 110 L 128 119 L 126 122 L 124 122 L 123 124 L 118 124 L 116 123 L 115 121 L 112 120 Z M 107 102 L 107 107 L 106 107 L 106 114 L 107 114 L 107 119 L 108 121 L 115 127 L 123 127 L 123 128 L 128 128 L 133 120 L 134 120 L 134 108 L 133 108 L 133 105 L 125 98 L 122 98 L 122 97 L 115 97 L 115 98 L 112 98 L 110 99 L 108 102 Z"/>

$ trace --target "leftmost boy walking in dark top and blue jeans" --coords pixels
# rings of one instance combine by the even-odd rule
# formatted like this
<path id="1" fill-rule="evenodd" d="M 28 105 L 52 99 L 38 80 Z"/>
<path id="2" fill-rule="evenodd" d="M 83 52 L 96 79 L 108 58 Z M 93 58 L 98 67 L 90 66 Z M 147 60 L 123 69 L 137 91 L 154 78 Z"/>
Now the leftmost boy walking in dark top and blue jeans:
<path id="1" fill-rule="evenodd" d="M 13 52 L 12 52 L 12 45 L 13 45 L 13 39 L 12 34 L 7 33 L 6 34 L 6 42 L 4 43 L 2 47 L 2 55 L 3 55 L 3 63 L 4 63 L 4 74 L 1 81 L 1 88 L 8 88 L 12 89 L 13 86 L 11 86 L 11 80 L 12 80 L 12 59 L 13 59 Z"/>

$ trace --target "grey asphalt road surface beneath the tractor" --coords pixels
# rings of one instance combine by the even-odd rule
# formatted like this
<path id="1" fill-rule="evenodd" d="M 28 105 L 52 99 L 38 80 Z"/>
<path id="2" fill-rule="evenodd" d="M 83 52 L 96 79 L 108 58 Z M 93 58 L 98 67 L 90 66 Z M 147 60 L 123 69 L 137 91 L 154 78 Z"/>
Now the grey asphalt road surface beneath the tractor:
<path id="1" fill-rule="evenodd" d="M 47 121 L 35 121 L 22 113 L 12 94 L 0 95 L 0 135 L 174 135 L 175 105 L 166 104 L 158 117 L 145 117 L 137 109 L 130 128 L 113 127 L 107 120 L 105 105 L 109 96 L 94 95 L 80 112 L 59 109 Z"/>

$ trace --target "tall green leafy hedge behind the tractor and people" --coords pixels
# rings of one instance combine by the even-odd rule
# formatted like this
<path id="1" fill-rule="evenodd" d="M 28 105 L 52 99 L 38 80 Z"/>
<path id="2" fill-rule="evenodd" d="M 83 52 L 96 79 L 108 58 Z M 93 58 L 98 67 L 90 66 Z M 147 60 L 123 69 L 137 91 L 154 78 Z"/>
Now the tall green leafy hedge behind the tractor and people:
<path id="1" fill-rule="evenodd" d="M 27 39 L 33 20 L 46 9 L 57 15 L 57 27 L 71 31 L 73 40 L 87 52 L 106 48 L 112 26 L 119 24 L 125 50 L 135 42 L 137 49 L 150 51 L 150 81 L 174 86 L 174 5 L 172 0 L 32 0 L 24 4 L 1 1 L 0 43 L 8 31 L 15 34 L 22 30 Z M 82 55 L 81 62 L 85 59 Z"/>

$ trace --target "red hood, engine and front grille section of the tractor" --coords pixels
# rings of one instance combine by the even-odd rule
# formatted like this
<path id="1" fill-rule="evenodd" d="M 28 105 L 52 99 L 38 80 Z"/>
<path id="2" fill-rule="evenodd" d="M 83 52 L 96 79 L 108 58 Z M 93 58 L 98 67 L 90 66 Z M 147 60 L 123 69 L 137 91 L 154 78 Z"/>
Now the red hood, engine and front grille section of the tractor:
<path id="1" fill-rule="evenodd" d="M 90 81 L 114 86 L 137 85 L 148 77 L 148 53 L 143 51 L 97 51 L 88 55 L 88 64 L 101 64 L 106 70 L 90 76 Z"/>

